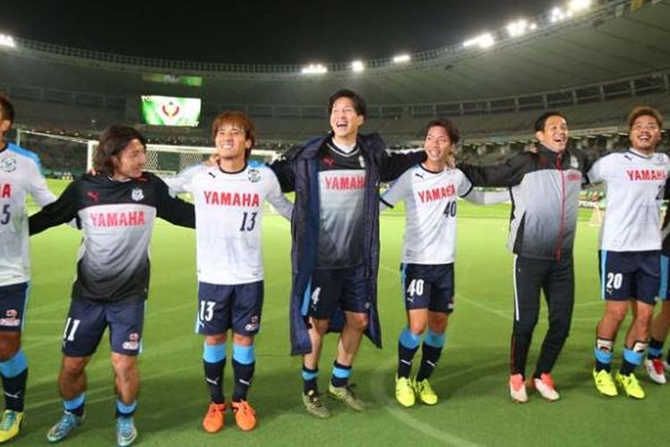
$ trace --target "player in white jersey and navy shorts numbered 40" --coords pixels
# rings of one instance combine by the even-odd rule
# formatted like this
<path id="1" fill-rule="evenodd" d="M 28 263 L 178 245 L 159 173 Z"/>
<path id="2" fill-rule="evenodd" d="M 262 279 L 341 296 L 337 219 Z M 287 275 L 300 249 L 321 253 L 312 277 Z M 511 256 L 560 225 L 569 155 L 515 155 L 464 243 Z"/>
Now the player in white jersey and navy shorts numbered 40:
<path id="1" fill-rule="evenodd" d="M 448 316 L 454 310 L 454 255 L 456 249 L 456 197 L 473 203 L 496 203 L 509 193 L 481 193 L 464 173 L 447 166 L 460 135 L 448 120 L 428 123 L 423 149 L 426 161 L 408 169 L 381 196 L 381 209 L 405 202 L 406 232 L 401 282 L 407 325 L 398 340 L 396 400 L 404 407 L 416 399 L 438 403 L 428 379 L 447 341 Z M 410 379 L 412 358 L 422 344 L 421 367 Z"/>

